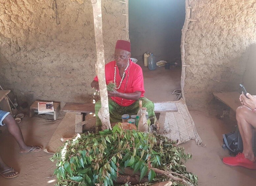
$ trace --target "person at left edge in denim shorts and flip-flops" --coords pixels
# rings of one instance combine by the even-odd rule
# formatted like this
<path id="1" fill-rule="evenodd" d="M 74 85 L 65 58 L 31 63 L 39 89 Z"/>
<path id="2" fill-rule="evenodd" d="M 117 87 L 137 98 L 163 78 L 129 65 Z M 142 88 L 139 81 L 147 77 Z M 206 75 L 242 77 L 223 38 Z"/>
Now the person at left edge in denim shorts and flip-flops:
<path id="1" fill-rule="evenodd" d="M 43 149 L 42 146 L 27 146 L 24 142 L 19 125 L 16 123 L 16 120 L 14 120 L 11 113 L 0 110 L 0 125 L 3 126 L 5 124 L 9 132 L 14 136 L 15 140 L 19 144 L 20 153 L 39 152 Z M 6 165 L 0 156 L 0 174 L 5 178 L 14 178 L 19 173 L 12 167 Z"/>

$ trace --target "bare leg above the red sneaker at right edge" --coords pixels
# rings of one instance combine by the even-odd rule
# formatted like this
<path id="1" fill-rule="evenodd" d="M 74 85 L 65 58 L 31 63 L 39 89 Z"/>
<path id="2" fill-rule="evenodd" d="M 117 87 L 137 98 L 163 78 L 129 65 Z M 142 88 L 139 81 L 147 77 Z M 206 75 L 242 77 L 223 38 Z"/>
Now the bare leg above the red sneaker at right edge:
<path id="1" fill-rule="evenodd" d="M 252 149 L 252 135 L 256 128 L 256 113 L 248 107 L 238 107 L 236 111 L 238 128 L 243 141 L 244 157 L 253 161 L 254 153 Z"/>

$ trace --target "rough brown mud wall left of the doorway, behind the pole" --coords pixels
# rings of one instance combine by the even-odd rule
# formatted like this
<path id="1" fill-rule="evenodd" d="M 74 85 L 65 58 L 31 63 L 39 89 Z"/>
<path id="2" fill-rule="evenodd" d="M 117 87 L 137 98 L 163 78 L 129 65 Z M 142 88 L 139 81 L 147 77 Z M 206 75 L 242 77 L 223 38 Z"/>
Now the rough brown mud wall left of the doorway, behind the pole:
<path id="1" fill-rule="evenodd" d="M 18 100 L 87 102 L 96 46 L 90 0 L 0 0 L 0 84 Z M 55 5 L 55 4 L 54 4 Z M 125 4 L 102 0 L 106 62 L 126 39 Z"/>

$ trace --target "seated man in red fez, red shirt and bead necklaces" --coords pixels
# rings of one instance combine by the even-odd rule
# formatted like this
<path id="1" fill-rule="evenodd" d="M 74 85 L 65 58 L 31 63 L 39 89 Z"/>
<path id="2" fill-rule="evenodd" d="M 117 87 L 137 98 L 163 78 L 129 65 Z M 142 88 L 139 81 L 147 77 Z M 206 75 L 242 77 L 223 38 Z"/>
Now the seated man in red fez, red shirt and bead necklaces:
<path id="1" fill-rule="evenodd" d="M 117 86 L 116 91 L 108 91 L 110 123 L 120 122 L 123 114 L 136 115 L 139 110 L 139 100 L 142 100 L 142 106 L 147 108 L 149 119 L 154 123 L 156 118 L 154 103 L 144 97 L 142 69 L 133 63 L 130 57 L 130 42 L 118 40 L 114 53 L 115 60 L 105 65 L 106 84 L 113 82 Z M 97 76 L 92 81 L 91 87 L 100 90 Z M 96 130 L 100 130 L 101 127 L 98 117 L 100 108 L 101 102 L 98 101 L 95 104 Z"/>

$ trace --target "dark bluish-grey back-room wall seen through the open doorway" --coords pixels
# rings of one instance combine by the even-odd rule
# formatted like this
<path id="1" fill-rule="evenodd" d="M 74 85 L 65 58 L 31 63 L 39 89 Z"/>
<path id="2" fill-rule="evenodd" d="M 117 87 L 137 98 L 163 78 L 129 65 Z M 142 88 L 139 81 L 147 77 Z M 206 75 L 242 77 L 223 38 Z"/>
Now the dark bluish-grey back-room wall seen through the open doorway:
<path id="1" fill-rule="evenodd" d="M 147 51 L 157 60 L 180 57 L 185 0 L 129 0 L 131 54 L 142 60 Z"/>

